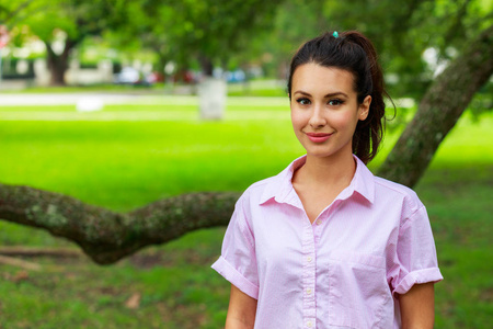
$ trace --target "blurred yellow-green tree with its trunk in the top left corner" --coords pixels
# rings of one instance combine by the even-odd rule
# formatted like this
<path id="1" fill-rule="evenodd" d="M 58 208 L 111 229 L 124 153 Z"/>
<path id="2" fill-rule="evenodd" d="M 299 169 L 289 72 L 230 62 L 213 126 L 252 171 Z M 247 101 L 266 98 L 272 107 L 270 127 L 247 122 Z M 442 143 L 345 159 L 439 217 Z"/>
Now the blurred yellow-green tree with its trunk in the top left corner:
<path id="1" fill-rule="evenodd" d="M 46 46 L 53 86 L 65 84 L 71 50 L 87 36 L 124 24 L 127 0 L 10 0 L 9 21 L 28 26 Z M 0 7 L 2 8 L 2 7 Z M 4 7 L 7 8 L 7 7 Z"/>

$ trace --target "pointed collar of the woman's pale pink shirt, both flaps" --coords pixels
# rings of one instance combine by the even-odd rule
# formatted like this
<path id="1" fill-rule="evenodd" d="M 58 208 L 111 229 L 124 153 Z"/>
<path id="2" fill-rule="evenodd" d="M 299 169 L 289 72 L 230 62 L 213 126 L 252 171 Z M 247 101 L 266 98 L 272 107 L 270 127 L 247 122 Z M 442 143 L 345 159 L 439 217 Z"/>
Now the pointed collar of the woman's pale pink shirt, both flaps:
<path id="1" fill-rule="evenodd" d="M 354 155 L 353 157 L 356 161 L 356 172 L 354 173 L 353 180 L 351 181 L 349 185 L 344 189 L 343 192 L 341 192 L 337 198 L 348 198 L 356 192 L 370 203 L 374 203 L 374 174 L 371 173 L 371 171 L 369 171 L 365 163 L 359 160 L 358 157 Z M 297 197 L 294 197 L 296 195 L 296 192 L 293 188 L 291 179 L 295 171 L 303 166 L 306 160 L 307 156 L 299 157 L 298 159 L 294 160 L 286 169 L 275 175 L 265 186 L 264 193 L 260 198 L 260 204 L 264 204 L 272 198 L 274 198 L 277 203 L 296 202 L 295 198 Z"/>

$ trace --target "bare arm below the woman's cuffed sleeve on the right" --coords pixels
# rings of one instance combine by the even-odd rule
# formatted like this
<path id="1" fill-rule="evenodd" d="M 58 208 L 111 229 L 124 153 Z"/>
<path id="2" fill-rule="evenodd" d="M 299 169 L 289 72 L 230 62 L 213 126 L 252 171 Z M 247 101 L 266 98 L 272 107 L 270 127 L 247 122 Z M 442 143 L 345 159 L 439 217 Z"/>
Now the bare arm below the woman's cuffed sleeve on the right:
<path id="1" fill-rule="evenodd" d="M 402 329 L 433 329 L 435 322 L 434 283 L 415 284 L 399 295 Z"/>

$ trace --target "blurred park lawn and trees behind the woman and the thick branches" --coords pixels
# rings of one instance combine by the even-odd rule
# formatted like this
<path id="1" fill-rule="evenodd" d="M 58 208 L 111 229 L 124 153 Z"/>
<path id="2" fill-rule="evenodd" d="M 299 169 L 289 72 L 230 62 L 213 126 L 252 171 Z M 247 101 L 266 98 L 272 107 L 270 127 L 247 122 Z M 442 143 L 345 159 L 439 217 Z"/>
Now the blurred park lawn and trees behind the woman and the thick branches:
<path id="1" fill-rule="evenodd" d="M 0 0 L 0 182 L 118 212 L 241 192 L 303 154 L 288 65 L 334 30 L 375 43 L 395 102 L 376 170 L 429 86 L 492 23 L 489 0 Z M 436 328 L 493 321 L 492 94 L 490 77 L 415 186 L 445 276 Z M 0 328 L 221 328 L 229 283 L 209 266 L 223 232 L 101 266 L 0 220 Z"/>

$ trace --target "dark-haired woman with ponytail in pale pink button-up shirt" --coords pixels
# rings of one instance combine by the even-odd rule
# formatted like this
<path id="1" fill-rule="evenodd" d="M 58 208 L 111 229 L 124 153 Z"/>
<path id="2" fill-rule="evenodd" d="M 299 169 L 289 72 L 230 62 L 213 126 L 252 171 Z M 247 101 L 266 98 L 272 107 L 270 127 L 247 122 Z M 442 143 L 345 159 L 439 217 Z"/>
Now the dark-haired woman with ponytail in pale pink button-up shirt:
<path id="1" fill-rule="evenodd" d="M 374 177 L 383 80 L 371 42 L 324 34 L 291 60 L 307 155 L 238 201 L 213 268 L 231 282 L 226 328 L 433 328 L 442 274 L 416 194 Z"/>

